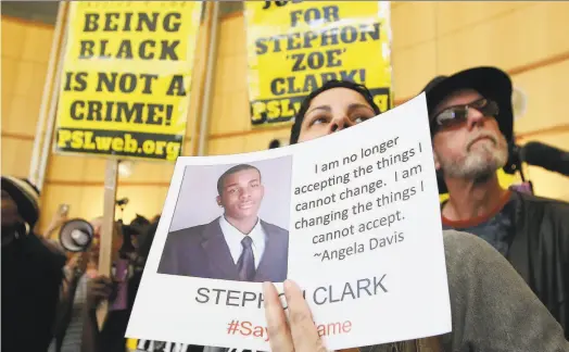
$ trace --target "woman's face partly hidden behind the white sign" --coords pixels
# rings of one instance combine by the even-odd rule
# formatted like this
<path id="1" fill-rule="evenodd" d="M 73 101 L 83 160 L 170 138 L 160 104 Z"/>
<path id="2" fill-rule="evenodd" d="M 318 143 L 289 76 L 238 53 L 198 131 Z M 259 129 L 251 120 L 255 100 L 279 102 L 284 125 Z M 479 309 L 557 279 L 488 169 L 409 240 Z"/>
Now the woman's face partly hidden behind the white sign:
<path id="1" fill-rule="evenodd" d="M 330 135 L 374 116 L 374 109 L 357 91 L 328 89 L 312 100 L 304 114 L 299 142 Z"/>

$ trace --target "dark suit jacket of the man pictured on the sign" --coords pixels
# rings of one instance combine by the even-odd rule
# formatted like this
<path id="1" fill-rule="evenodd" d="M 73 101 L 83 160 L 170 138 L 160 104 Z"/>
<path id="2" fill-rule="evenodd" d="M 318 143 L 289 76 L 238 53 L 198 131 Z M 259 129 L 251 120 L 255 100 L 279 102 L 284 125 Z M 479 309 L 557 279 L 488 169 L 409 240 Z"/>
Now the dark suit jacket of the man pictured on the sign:
<path id="1" fill-rule="evenodd" d="M 289 231 L 261 221 L 266 234 L 263 257 L 253 281 L 282 282 L 287 279 Z M 210 224 L 168 234 L 159 274 L 239 280 L 237 265 L 225 241 L 219 218 Z"/>

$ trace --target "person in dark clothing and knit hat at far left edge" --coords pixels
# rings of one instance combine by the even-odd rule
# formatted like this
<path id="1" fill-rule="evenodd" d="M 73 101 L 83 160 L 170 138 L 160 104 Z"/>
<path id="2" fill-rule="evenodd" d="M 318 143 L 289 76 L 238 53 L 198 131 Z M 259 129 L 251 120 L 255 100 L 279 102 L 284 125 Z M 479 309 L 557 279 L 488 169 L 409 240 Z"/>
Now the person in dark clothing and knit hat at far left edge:
<path id="1" fill-rule="evenodd" d="M 46 351 L 52 339 L 65 254 L 34 234 L 39 191 L 2 176 L 1 350 Z"/>

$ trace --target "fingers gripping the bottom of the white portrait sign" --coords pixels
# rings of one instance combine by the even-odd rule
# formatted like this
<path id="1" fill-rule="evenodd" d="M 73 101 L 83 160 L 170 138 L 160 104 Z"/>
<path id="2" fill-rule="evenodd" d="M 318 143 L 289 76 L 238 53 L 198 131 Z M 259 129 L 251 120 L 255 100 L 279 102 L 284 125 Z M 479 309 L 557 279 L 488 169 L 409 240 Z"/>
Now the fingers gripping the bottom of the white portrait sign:
<path id="1" fill-rule="evenodd" d="M 289 322 L 284 315 L 277 289 L 263 284 L 265 316 L 270 349 L 274 352 L 326 352 L 312 318 L 311 309 L 301 289 L 291 280 L 284 281 L 284 297 L 289 307 Z"/>

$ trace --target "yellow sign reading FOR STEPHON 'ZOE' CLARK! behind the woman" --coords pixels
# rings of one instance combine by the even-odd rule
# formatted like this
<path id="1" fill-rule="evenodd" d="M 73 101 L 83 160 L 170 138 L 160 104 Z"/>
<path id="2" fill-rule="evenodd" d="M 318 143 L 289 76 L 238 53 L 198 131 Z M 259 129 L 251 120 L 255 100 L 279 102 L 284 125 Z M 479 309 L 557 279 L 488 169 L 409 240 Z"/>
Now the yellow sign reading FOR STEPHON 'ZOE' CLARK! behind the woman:
<path id="1" fill-rule="evenodd" d="M 392 108 L 389 1 L 248 1 L 249 99 L 253 126 L 292 121 L 330 79 L 367 86 Z"/>

